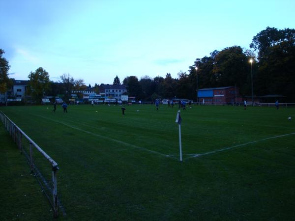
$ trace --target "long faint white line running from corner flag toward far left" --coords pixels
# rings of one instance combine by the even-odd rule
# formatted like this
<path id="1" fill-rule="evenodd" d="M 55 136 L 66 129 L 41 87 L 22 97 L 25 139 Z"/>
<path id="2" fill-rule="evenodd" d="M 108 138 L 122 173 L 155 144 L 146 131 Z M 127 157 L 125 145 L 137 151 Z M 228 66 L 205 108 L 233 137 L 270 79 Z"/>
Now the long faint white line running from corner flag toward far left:
<path id="1" fill-rule="evenodd" d="M 53 119 L 50 119 L 50 118 L 47 118 L 47 117 L 44 117 L 44 116 L 40 116 L 40 115 L 37 115 L 37 114 L 34 114 L 34 115 L 39 116 L 39 117 L 42 117 L 42 118 L 47 119 L 47 120 L 54 121 L 54 122 L 59 123 L 59 124 L 62 124 L 62 125 L 65 125 L 65 126 L 67 126 L 67 127 L 73 128 L 73 129 L 75 129 L 75 130 L 85 132 L 85 133 L 87 133 L 87 134 L 93 135 L 93 136 L 98 137 L 98 138 L 109 139 L 109 140 L 111 140 L 111 141 L 117 142 L 117 143 L 119 143 L 119 144 L 123 144 L 123 145 L 125 145 L 125 146 L 131 146 L 131 147 L 133 147 L 133 148 L 135 148 L 135 149 L 145 150 L 145 151 L 150 152 L 150 153 L 153 153 L 153 154 L 157 154 L 157 155 L 161 155 L 161 156 L 164 156 L 164 157 L 170 157 L 170 158 L 172 158 L 172 159 L 176 159 L 175 157 L 173 157 L 173 156 L 171 156 L 171 155 L 168 155 L 168 154 L 162 154 L 162 153 L 157 152 L 157 151 L 154 151 L 154 150 L 149 150 L 149 149 L 144 148 L 144 147 L 140 147 L 140 146 L 136 146 L 136 145 L 133 145 L 133 144 L 130 144 L 130 143 L 126 143 L 126 142 L 120 141 L 120 140 L 118 140 L 118 139 L 108 138 L 108 137 L 105 137 L 105 136 L 102 136 L 102 135 L 99 135 L 99 134 L 95 134 L 95 133 L 92 133 L 92 132 L 89 132 L 89 131 L 86 131 L 86 130 L 80 129 L 80 128 L 78 128 L 78 127 L 73 127 L 73 126 L 71 126 L 71 125 L 69 125 L 69 124 L 66 124 L 66 123 L 63 123 L 63 122 L 60 122 L 60 121 L 56 121 L 56 120 L 53 120 Z M 178 160 L 178 159 L 176 159 L 176 160 Z"/>

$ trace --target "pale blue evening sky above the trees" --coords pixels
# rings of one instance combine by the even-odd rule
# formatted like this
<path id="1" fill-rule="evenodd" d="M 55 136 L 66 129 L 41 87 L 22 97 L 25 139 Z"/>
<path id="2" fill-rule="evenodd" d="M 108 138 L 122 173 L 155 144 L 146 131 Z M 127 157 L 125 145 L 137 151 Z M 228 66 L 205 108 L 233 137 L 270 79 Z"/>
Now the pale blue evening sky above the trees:
<path id="1" fill-rule="evenodd" d="M 249 49 L 266 27 L 295 28 L 294 12 L 294 0 L 0 0 L 0 48 L 16 80 L 39 67 L 92 86 L 177 78 L 214 50 Z"/>

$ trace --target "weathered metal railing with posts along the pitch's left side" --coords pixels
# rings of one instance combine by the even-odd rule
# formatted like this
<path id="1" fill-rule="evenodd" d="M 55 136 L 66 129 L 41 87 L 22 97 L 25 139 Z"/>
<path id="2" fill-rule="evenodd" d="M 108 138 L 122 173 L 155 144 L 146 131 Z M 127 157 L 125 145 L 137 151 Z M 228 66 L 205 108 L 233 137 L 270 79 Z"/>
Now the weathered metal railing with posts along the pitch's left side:
<path id="1" fill-rule="evenodd" d="M 27 157 L 30 170 L 37 178 L 43 193 L 47 196 L 50 204 L 52 205 L 54 217 L 57 218 L 59 206 L 57 187 L 57 172 L 59 170 L 58 164 L 47 153 L 45 153 L 31 138 L 29 138 L 29 136 L 26 135 L 14 122 L 12 122 L 12 120 L 10 120 L 2 111 L 0 111 L 0 120 L 2 121 L 9 135 L 13 138 L 13 141 L 16 143 L 21 154 L 24 154 Z M 51 168 L 49 168 L 46 164 L 44 164 L 44 167 L 46 168 L 45 170 L 47 170 L 47 172 L 49 172 L 48 170 L 52 171 L 52 181 L 46 180 L 36 166 L 37 162 L 39 163 L 38 166 L 43 166 L 43 163 L 41 162 L 43 161 L 42 159 L 44 159 L 44 157 L 51 164 Z M 49 174 L 47 175 L 50 176 Z M 50 183 L 52 183 L 52 185 L 50 185 Z M 50 197 L 49 194 L 51 194 L 52 197 Z M 65 214 L 64 211 L 62 212 L 63 214 Z"/>

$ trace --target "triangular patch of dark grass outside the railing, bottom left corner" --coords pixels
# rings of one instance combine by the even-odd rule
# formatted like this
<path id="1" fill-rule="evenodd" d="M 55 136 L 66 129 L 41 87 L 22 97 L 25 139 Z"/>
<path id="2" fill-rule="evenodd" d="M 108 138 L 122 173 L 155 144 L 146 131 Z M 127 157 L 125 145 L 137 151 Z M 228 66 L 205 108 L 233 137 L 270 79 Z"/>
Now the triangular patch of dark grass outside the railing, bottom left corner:
<path id="1" fill-rule="evenodd" d="M 52 211 L 26 159 L 0 126 L 0 220 L 49 220 Z"/>

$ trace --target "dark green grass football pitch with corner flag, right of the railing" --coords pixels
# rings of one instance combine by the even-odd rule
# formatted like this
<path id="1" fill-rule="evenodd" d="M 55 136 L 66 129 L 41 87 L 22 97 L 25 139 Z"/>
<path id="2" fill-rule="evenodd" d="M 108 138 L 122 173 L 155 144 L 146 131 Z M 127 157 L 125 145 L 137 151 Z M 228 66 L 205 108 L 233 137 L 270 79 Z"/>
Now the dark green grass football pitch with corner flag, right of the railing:
<path id="1" fill-rule="evenodd" d="M 176 107 L 48 107 L 0 111 L 59 164 L 59 220 L 294 220 L 294 108 L 181 111 L 179 162 Z M 40 197 L 32 211 L 47 204 Z"/>

